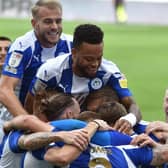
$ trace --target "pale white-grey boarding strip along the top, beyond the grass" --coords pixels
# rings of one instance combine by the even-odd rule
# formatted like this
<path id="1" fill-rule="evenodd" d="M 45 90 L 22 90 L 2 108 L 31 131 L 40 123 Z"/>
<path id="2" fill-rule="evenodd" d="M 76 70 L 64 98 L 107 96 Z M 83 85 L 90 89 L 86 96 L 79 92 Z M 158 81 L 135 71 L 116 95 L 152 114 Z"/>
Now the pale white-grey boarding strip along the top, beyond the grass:
<path id="1" fill-rule="evenodd" d="M 30 16 L 37 0 L 0 0 L 1 17 Z M 114 22 L 112 0 L 60 0 L 66 20 Z M 128 23 L 168 24 L 168 0 L 125 0 Z"/>

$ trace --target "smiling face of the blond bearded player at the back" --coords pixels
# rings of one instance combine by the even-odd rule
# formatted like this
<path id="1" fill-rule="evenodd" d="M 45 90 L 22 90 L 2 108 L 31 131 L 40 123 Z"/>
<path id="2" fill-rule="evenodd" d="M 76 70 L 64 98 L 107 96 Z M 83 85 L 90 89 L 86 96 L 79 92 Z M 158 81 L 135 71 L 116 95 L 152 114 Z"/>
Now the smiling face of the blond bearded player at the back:
<path id="1" fill-rule="evenodd" d="M 40 7 L 37 16 L 32 19 L 32 26 L 42 46 L 53 47 L 62 33 L 62 10 L 59 7 Z"/>

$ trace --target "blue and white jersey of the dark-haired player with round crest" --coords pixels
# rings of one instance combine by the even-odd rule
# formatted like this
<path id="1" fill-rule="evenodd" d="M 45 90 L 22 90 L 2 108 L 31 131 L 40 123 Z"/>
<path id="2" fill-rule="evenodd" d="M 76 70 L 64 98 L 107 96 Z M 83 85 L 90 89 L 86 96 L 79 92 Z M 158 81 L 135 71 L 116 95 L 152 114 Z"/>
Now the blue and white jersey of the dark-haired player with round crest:
<path id="1" fill-rule="evenodd" d="M 127 87 L 126 78 L 113 62 L 103 58 L 96 76 L 85 78 L 73 73 L 72 55 L 65 54 L 48 60 L 39 68 L 31 84 L 30 92 L 35 94 L 36 91 L 42 89 L 55 88 L 72 94 L 78 99 L 80 96 L 85 98 L 88 93 L 105 85 L 111 86 L 120 98 L 132 95 Z"/>

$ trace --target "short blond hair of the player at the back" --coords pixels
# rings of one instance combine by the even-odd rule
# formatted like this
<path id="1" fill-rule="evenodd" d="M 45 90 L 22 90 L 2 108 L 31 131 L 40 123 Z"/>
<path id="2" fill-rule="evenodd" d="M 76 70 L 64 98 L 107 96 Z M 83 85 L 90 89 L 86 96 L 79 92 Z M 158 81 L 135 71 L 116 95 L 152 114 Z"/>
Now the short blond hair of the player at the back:
<path id="1" fill-rule="evenodd" d="M 40 7 L 47 7 L 49 9 L 59 8 L 62 12 L 62 5 L 58 0 L 38 0 L 31 9 L 33 18 L 37 18 Z"/>

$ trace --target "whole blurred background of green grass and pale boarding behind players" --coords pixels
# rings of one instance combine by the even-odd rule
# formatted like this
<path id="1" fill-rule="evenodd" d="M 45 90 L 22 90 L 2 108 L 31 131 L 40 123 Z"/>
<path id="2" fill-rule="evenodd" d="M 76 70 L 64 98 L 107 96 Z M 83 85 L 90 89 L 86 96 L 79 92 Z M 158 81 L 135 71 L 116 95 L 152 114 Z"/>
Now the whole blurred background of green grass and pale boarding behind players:
<path id="1" fill-rule="evenodd" d="M 0 36 L 14 40 L 31 29 L 36 0 L 0 0 Z M 111 0 L 60 0 L 64 32 L 92 22 L 105 32 L 104 56 L 128 78 L 145 120 L 164 120 L 162 102 L 168 86 L 168 0 L 125 0 L 127 24 L 116 24 Z"/>

